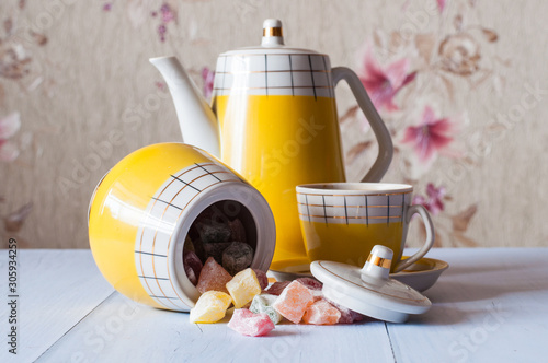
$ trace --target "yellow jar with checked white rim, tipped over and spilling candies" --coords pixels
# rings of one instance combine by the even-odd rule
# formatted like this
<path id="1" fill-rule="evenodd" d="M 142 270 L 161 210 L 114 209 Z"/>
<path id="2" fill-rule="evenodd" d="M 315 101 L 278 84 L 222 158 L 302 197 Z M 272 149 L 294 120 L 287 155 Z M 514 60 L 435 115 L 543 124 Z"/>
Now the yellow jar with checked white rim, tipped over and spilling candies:
<path id="1" fill-rule="evenodd" d="M 263 196 L 207 152 L 182 143 L 149 145 L 116 164 L 93 192 L 88 224 L 95 264 L 114 289 L 139 303 L 180 312 L 190 311 L 199 296 L 184 254 L 195 254 L 202 264 L 208 257 L 222 264 L 221 246 L 205 244 L 251 248 L 247 267 L 266 271 L 276 238 Z M 227 234 L 224 226 L 230 229 L 226 241 L 207 239 Z"/>

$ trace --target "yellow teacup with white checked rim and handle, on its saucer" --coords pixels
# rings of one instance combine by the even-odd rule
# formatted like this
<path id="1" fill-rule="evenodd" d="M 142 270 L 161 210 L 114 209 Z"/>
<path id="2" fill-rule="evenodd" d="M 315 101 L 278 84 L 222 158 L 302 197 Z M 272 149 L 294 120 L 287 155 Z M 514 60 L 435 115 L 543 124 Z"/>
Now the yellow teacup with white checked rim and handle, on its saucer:
<path id="1" fill-rule="evenodd" d="M 387 183 L 327 183 L 297 186 L 300 227 L 310 260 L 363 266 L 375 245 L 393 250 L 391 272 L 421 259 L 434 244 L 434 226 L 422 206 L 411 206 L 413 187 Z M 401 260 L 409 222 L 421 215 L 426 241 Z"/>

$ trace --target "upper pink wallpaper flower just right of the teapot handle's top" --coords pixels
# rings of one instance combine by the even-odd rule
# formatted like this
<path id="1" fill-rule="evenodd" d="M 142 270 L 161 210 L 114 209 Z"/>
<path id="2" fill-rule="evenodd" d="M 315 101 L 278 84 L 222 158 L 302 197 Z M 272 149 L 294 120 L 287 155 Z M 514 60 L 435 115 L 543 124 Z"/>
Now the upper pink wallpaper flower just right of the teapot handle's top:
<path id="1" fill-rule="evenodd" d="M 413 81 L 416 72 L 409 72 L 410 62 L 403 58 L 383 68 L 367 49 L 364 59 L 363 74 L 359 77 L 375 107 L 388 112 L 397 110 L 393 97 L 409 82 Z"/>

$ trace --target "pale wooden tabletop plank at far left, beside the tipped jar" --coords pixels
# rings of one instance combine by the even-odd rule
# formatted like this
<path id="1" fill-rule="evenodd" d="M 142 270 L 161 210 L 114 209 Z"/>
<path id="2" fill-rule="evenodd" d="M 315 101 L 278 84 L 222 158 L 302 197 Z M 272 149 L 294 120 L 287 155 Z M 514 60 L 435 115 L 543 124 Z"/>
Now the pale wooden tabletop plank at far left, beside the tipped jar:
<path id="1" fill-rule="evenodd" d="M 32 362 L 114 292 L 90 250 L 18 250 L 19 347 L 8 353 L 2 338 L 0 362 Z M 7 294 L 8 251 L 0 251 L 0 291 Z M 2 302 L 2 305 L 5 304 Z M 3 305 L 4 306 L 4 305 Z M 0 332 L 8 331 L 8 309 L 0 309 Z"/>

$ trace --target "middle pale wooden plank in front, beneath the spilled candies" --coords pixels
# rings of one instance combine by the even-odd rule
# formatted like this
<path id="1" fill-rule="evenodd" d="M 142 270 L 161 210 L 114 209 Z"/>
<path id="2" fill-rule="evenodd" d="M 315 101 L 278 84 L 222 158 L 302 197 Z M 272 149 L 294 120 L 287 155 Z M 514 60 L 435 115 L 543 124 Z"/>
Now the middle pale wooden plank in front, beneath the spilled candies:
<path id="1" fill-rule="evenodd" d="M 243 337 L 224 321 L 189 323 L 186 313 L 138 305 L 113 294 L 38 362 L 392 362 L 384 323 L 315 327 L 283 324 Z"/>

